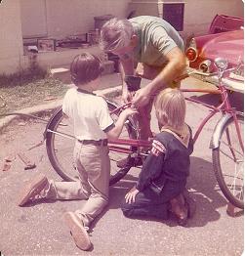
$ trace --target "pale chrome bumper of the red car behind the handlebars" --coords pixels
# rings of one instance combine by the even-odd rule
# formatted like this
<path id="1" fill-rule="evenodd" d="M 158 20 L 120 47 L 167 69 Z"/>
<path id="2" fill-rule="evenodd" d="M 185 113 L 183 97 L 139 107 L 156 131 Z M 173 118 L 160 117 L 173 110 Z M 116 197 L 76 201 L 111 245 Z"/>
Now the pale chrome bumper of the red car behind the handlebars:
<path id="1" fill-rule="evenodd" d="M 188 72 L 190 73 L 189 76 L 195 77 L 199 80 L 204 82 L 209 82 L 218 86 L 219 78 L 217 75 L 209 76 L 209 73 L 204 73 L 197 69 L 188 67 Z M 234 79 L 232 77 L 225 77 L 222 79 L 223 83 L 225 84 L 225 88 L 234 92 L 244 93 L 244 80 Z"/>

